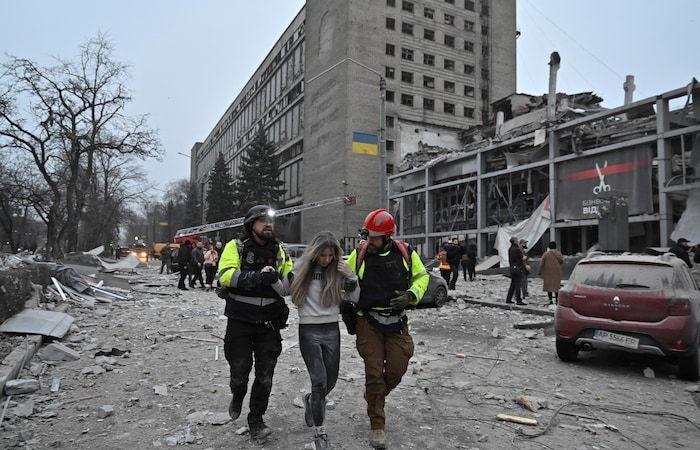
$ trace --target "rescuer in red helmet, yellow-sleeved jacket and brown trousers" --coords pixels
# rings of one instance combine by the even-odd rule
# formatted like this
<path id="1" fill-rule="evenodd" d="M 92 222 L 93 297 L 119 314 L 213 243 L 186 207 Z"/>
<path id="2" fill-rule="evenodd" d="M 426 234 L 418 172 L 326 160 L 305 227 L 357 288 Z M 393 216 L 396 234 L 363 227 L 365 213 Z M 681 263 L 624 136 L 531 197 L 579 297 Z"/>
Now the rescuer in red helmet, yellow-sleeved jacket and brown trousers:
<path id="1" fill-rule="evenodd" d="M 413 248 L 391 238 L 396 224 L 389 211 L 369 213 L 363 232 L 367 240 L 353 250 L 348 265 L 360 281 L 357 350 L 365 362 L 370 443 L 383 449 L 385 398 L 401 382 L 413 356 L 405 308 L 420 301 L 430 276 Z"/>

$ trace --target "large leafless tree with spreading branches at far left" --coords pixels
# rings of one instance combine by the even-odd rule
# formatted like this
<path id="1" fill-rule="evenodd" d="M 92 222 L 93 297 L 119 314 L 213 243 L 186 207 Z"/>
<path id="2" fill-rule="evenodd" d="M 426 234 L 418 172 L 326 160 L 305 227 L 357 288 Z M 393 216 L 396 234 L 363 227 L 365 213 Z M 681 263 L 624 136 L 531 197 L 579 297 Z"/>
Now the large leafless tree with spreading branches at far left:
<path id="1" fill-rule="evenodd" d="M 127 67 L 104 36 L 83 45 L 75 61 L 44 67 L 11 57 L 3 69 L 0 149 L 33 163 L 45 194 L 34 208 L 52 253 L 75 251 L 99 155 L 157 156 L 158 138 L 145 116 L 126 115 Z"/>

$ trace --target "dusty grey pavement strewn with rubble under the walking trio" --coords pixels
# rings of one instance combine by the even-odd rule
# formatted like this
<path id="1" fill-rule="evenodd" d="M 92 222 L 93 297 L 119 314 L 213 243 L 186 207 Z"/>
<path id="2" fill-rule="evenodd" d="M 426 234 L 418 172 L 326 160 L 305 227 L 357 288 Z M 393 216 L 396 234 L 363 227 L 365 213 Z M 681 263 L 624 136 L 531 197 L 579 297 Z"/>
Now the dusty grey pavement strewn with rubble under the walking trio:
<path id="1" fill-rule="evenodd" d="M 258 445 L 242 430 L 247 399 L 240 419 L 231 422 L 225 414 L 230 393 L 220 339 L 223 301 L 199 289 L 178 291 L 175 276 L 153 269 L 129 278 L 169 286 L 134 284 L 151 293 L 137 292 L 136 301 L 72 307 L 79 329 L 62 342 L 81 358 L 50 365 L 34 357 L 23 377 L 40 378 L 42 389 L 12 397 L 0 447 L 303 449 L 311 442 L 297 406 L 310 385 L 293 308 L 265 417 L 274 434 Z M 502 299 L 507 281 L 482 276 L 460 282 L 456 294 Z M 531 303 L 546 303 L 540 289 L 532 280 Z M 700 442 L 697 394 L 689 392 L 696 386 L 677 380 L 675 368 L 659 359 L 599 352 L 562 363 L 553 336 L 513 328 L 543 317 L 461 300 L 409 315 L 416 351 L 387 400 L 389 448 L 661 449 L 697 448 Z M 333 448 L 369 448 L 362 360 L 354 337 L 343 325 L 341 330 L 340 380 L 329 398 L 327 430 Z M 112 348 L 129 352 L 93 359 Z M 647 367 L 654 378 L 644 376 Z M 50 392 L 54 377 L 60 379 L 58 393 Z M 518 397 L 541 408 L 530 412 Z M 18 417 L 28 406 L 30 414 Z M 100 411 L 103 406 L 113 411 Z M 501 413 L 539 424 L 498 422 Z"/>

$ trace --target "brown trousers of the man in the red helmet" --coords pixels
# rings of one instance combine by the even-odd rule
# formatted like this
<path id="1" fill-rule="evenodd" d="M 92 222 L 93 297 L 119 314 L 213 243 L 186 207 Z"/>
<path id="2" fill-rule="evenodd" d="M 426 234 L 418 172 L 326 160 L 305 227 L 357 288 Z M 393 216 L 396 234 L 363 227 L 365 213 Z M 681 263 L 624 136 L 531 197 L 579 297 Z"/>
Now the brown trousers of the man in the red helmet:
<path id="1" fill-rule="evenodd" d="M 358 317 L 357 351 L 365 361 L 365 396 L 371 428 L 383 430 L 384 399 L 406 373 L 408 360 L 413 356 L 413 339 L 406 327 L 401 333 L 385 332 Z"/>

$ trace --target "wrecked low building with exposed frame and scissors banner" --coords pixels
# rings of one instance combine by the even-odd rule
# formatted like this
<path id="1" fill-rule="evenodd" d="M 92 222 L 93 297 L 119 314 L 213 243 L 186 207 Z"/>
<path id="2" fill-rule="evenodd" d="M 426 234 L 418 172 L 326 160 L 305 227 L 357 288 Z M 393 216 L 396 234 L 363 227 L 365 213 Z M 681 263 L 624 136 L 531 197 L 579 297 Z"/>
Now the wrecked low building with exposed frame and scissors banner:
<path id="1" fill-rule="evenodd" d="M 633 101 L 628 77 L 625 104 L 607 109 L 592 92 L 556 93 L 559 64 L 555 52 L 548 94 L 493 102 L 493 125 L 462 132 L 457 149 L 423 146 L 390 177 L 399 234 L 423 255 L 452 236 L 493 254 L 499 229 L 526 220 L 542 227 L 540 250 L 586 252 L 615 205 L 621 249 L 700 242 L 700 83 Z"/>

